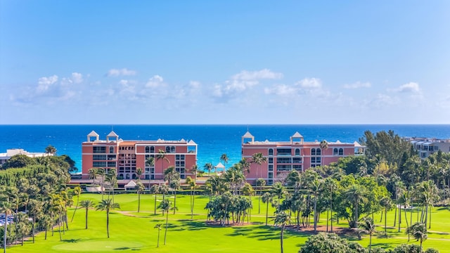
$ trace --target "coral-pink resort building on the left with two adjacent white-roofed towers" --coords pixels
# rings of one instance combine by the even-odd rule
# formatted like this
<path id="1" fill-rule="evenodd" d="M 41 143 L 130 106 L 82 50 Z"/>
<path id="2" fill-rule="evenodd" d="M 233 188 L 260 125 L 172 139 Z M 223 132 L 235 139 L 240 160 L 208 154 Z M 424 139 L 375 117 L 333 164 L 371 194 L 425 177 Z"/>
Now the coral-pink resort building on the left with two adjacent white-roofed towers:
<path id="1" fill-rule="evenodd" d="M 154 163 L 146 162 L 153 157 Z M 164 171 L 173 166 L 181 179 L 192 176 L 191 167 L 197 164 L 197 144 L 193 141 L 124 141 L 114 131 L 101 140 L 95 131 L 82 143 L 82 179 L 89 179 L 89 169 L 115 169 L 119 183 L 137 179 L 137 169 L 142 169 L 141 179 L 158 183 Z"/>

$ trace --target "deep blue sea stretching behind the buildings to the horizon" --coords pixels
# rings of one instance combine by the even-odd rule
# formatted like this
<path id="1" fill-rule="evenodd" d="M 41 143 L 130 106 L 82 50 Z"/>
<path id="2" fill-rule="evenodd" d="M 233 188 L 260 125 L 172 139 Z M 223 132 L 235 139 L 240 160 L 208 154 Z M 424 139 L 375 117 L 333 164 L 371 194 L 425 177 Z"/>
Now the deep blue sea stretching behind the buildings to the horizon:
<path id="1" fill-rule="evenodd" d="M 114 130 L 124 140 L 193 140 L 198 144 L 198 166 L 217 164 L 221 154 L 229 156 L 229 164 L 240 160 L 241 136 L 247 130 L 255 141 L 289 141 L 298 131 L 305 141 L 358 141 L 364 131 L 373 133 L 393 130 L 399 136 L 450 138 L 450 124 L 445 125 L 0 125 L 0 153 L 8 148 L 44 152 L 53 145 L 58 155 L 69 155 L 81 170 L 81 145 L 91 131 L 101 139 Z"/>

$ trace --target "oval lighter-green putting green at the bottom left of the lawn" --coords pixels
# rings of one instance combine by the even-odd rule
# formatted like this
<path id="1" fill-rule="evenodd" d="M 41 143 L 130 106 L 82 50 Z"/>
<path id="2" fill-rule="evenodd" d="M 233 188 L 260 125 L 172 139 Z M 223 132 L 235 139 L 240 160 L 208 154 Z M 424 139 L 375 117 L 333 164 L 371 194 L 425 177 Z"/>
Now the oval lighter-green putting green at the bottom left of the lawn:
<path id="1" fill-rule="evenodd" d="M 53 250 L 60 251 L 86 251 L 86 252 L 105 252 L 105 251 L 113 251 L 113 250 L 136 250 L 143 247 L 140 243 L 137 242 L 117 242 L 110 240 L 79 240 L 73 242 L 65 242 L 60 245 L 55 245 L 51 247 Z"/>

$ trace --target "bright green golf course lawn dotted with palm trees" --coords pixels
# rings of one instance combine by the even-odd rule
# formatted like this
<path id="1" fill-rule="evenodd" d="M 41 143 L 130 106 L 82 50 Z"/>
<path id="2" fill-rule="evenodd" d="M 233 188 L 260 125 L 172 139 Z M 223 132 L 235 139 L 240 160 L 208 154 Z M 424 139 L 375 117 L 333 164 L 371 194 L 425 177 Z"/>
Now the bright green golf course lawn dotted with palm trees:
<path id="1" fill-rule="evenodd" d="M 98 202 L 101 195 L 82 194 L 80 201 L 89 198 Z M 173 196 L 169 196 L 173 205 Z M 158 202 L 162 196 L 158 195 Z M 245 226 L 221 227 L 207 226 L 205 224 L 206 210 L 204 209 L 208 197 L 195 197 L 194 219 L 191 219 L 189 208 L 189 196 L 177 195 L 176 206 L 179 208 L 176 214 L 169 212 L 169 226 L 167 230 L 167 245 L 164 245 L 165 216 L 157 210 L 154 212 L 154 195 L 141 195 L 141 212 L 137 213 L 137 195 L 115 195 L 115 202 L 120 204 L 120 210 L 110 214 L 110 238 L 106 235 L 105 212 L 89 209 L 89 229 L 84 229 L 84 209 L 78 209 L 73 222 L 69 223 L 69 230 L 59 240 L 58 228 L 54 235 L 51 231 L 47 240 L 44 233 L 39 233 L 33 244 L 29 239 L 24 246 L 13 246 L 7 252 L 279 252 L 280 230 L 272 226 L 264 226 L 266 205 L 261 203 L 261 213 L 258 214 L 257 197 L 253 197 L 253 209 L 251 224 Z M 76 204 L 76 203 L 75 203 Z M 158 203 L 157 203 L 158 205 Z M 73 214 L 73 208 L 69 211 L 69 220 Z M 269 207 L 269 214 L 274 209 Z M 413 221 L 416 220 L 413 213 Z M 326 214 L 321 215 L 319 225 L 325 226 Z M 378 231 L 384 231 L 380 214 L 375 214 Z M 424 249 L 434 247 L 441 253 L 450 253 L 450 211 L 449 209 L 434 208 L 432 210 L 432 228 L 428 240 L 423 243 Z M 409 219 L 409 213 L 408 213 Z M 160 231 L 160 247 L 156 247 L 158 229 L 157 223 L 162 223 Z M 272 222 L 273 223 L 273 222 Z M 396 247 L 408 241 L 404 233 L 406 223 L 402 214 L 401 232 L 393 228 L 394 212 L 387 215 L 388 238 L 373 237 L 373 246 Z M 270 224 L 270 218 L 269 218 Z M 398 224 L 398 223 L 397 223 Z M 342 221 L 334 226 L 347 227 Z M 398 226 L 398 225 L 397 225 Z M 298 252 L 310 233 L 295 233 L 287 231 L 284 237 L 285 252 Z M 349 236 L 350 240 L 355 240 Z M 368 246 L 368 236 L 358 241 L 365 247 Z M 409 243 L 418 243 L 411 239 Z"/>

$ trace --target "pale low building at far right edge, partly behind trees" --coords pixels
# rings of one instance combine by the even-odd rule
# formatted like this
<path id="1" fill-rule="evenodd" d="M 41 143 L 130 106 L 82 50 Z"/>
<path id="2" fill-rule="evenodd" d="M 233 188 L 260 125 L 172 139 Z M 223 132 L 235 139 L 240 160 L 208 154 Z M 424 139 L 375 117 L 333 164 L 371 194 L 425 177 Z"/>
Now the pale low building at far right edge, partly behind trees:
<path id="1" fill-rule="evenodd" d="M 450 139 L 425 138 L 425 137 L 405 137 L 406 141 L 413 144 L 414 149 L 419 153 L 420 158 L 425 159 L 432 153 L 441 150 L 450 153 Z"/>

